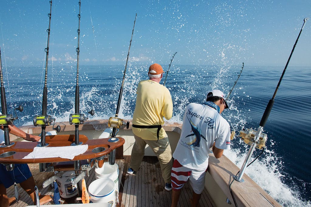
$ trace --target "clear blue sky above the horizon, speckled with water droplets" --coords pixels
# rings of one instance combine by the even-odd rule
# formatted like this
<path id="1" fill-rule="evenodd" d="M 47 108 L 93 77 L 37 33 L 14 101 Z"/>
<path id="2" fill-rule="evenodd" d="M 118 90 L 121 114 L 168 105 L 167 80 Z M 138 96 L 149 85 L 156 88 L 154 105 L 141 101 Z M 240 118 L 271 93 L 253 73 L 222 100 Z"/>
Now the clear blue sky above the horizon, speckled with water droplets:
<path id="1" fill-rule="evenodd" d="M 2 65 L 44 65 L 49 9 L 47 0 L 0 0 Z M 75 63 L 78 11 L 77 0 L 53 0 L 49 64 Z M 135 13 L 130 62 L 167 65 L 177 52 L 174 64 L 285 66 L 311 2 L 82 0 L 80 64 L 125 64 Z M 311 65 L 310 36 L 311 20 L 291 66 Z"/>

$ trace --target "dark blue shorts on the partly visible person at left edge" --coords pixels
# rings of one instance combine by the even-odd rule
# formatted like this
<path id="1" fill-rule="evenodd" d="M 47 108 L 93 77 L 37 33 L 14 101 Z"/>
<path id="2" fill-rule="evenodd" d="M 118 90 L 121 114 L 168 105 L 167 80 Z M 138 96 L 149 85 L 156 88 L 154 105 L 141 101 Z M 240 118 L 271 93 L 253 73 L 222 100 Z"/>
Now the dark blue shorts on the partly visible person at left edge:
<path id="1" fill-rule="evenodd" d="M 32 176 L 27 164 L 14 164 L 14 169 L 7 171 L 3 164 L 0 164 L 0 184 L 8 188 L 16 183 L 21 183 Z"/>

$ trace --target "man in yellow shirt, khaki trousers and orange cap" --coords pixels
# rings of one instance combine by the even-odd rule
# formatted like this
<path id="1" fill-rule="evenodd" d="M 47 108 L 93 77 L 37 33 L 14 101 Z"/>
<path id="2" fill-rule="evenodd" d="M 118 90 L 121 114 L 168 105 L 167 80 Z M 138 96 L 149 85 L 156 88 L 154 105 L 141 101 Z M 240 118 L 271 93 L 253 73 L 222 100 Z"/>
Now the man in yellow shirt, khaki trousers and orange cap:
<path id="1" fill-rule="evenodd" d="M 136 106 L 132 120 L 135 143 L 131 154 L 128 174 L 137 171 L 145 155 L 148 144 L 160 161 L 165 190 L 172 190 L 171 169 L 172 151 L 165 130 L 163 117 L 167 120 L 173 115 L 173 102 L 169 90 L 160 84 L 163 77 L 162 66 L 155 63 L 149 67 L 149 80 L 138 83 Z"/>

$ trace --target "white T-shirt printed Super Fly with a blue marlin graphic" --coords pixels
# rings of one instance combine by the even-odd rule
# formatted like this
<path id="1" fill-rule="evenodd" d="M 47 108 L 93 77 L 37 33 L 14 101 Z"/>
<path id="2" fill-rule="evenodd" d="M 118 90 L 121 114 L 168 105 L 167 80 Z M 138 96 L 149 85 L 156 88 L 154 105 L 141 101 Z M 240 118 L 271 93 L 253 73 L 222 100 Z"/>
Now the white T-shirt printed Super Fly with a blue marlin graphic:
<path id="1" fill-rule="evenodd" d="M 219 149 L 230 149 L 229 123 L 214 108 L 190 103 L 183 117 L 174 159 L 190 169 L 206 169 L 214 142 Z"/>

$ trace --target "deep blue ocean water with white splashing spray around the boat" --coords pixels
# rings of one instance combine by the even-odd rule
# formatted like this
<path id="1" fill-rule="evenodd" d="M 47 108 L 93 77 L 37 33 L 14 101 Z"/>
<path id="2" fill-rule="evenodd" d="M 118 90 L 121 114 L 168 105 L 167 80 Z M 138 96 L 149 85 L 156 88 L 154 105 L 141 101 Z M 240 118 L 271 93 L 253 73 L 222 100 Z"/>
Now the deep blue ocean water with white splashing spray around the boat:
<path id="1" fill-rule="evenodd" d="M 124 82 L 119 117 L 131 119 L 136 88 L 147 79 L 149 65 L 130 63 Z M 242 65 L 204 66 L 172 65 L 166 80 L 174 110 L 168 122 L 182 123 L 184 109 L 190 102 L 202 103 L 207 92 L 220 89 L 226 95 L 238 78 Z M 231 130 L 236 132 L 230 151 L 225 155 L 241 167 L 249 146 L 237 134 L 242 128 L 257 129 L 268 101 L 276 89 L 284 67 L 245 65 L 229 99 L 229 109 L 222 113 Z M 114 116 L 124 65 L 81 65 L 79 69 L 80 112 L 91 109 L 89 119 Z M 45 69 L 40 66 L 3 68 L 8 113 L 17 111 L 16 126 L 30 125 L 40 115 Z M 74 112 L 76 65 L 49 66 L 48 115 L 56 121 L 68 121 Z M 166 72 L 166 71 L 165 71 Z M 161 83 L 164 82 L 166 73 Z M 311 206 L 311 68 L 291 67 L 285 72 L 275 97 L 271 114 L 264 127 L 267 133 L 265 153 L 245 173 L 283 206 Z M 256 149 L 254 155 L 260 150 Z"/>

